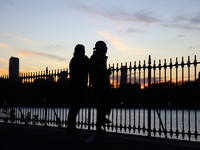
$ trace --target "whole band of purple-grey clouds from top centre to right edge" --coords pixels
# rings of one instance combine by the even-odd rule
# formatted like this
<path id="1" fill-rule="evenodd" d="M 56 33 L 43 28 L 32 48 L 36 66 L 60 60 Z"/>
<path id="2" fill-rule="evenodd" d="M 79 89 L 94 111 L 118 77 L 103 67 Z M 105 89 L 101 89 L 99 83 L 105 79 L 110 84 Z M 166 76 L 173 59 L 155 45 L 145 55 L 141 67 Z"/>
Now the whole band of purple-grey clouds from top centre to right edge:
<path id="1" fill-rule="evenodd" d="M 165 18 L 165 14 L 160 11 L 152 11 L 148 9 L 130 10 L 130 7 L 124 5 L 101 6 L 70 1 L 67 7 L 73 11 L 83 12 L 85 14 L 97 17 L 103 17 L 111 21 L 119 21 L 121 23 L 144 23 L 157 24 L 161 27 L 179 28 L 184 30 L 200 30 L 200 12 L 189 13 L 187 11 L 177 13 L 175 10 L 171 12 L 170 19 Z M 153 6 L 152 6 L 153 7 Z M 180 7 L 181 8 L 181 7 Z M 162 9 L 162 8 L 161 8 Z M 187 9 L 186 9 L 187 10 Z M 130 30 L 130 32 L 140 31 L 139 29 Z"/>

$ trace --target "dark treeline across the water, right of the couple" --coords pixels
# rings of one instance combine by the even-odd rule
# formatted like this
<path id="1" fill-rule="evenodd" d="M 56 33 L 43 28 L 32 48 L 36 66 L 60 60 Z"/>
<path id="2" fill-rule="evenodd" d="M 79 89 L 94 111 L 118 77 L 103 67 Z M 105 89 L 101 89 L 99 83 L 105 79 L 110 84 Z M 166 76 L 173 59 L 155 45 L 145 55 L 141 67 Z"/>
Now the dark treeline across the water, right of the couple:
<path id="1" fill-rule="evenodd" d="M 137 85 L 126 84 L 115 91 L 118 106 L 151 107 L 173 109 L 200 109 L 200 83 L 186 82 L 176 85 L 173 82 L 151 84 L 150 88 L 140 89 Z"/>

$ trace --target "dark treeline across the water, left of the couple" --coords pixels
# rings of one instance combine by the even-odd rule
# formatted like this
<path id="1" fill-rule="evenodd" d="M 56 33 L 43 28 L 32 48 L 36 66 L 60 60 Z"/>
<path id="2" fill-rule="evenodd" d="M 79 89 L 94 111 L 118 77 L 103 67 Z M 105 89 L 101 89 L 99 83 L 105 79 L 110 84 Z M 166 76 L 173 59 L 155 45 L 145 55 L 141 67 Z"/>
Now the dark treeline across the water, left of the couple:
<path id="1" fill-rule="evenodd" d="M 10 107 L 67 107 L 69 83 L 40 80 L 32 83 L 1 82 L 1 103 Z"/>

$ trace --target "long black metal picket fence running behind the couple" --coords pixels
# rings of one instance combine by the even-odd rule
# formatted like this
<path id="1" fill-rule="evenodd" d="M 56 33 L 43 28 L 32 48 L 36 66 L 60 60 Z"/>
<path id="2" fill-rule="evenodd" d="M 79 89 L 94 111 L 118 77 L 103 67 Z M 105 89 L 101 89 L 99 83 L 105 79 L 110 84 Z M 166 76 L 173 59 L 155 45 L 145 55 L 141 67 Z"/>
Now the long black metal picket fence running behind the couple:
<path id="1" fill-rule="evenodd" d="M 109 65 L 112 110 L 108 132 L 200 141 L 200 62 Z M 70 106 L 68 70 L 48 69 L 0 78 L 0 121 L 66 127 Z M 88 84 L 78 128 L 96 129 L 97 103 Z"/>

